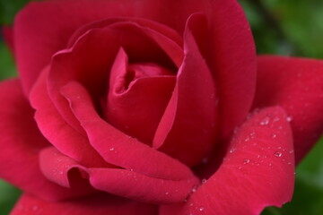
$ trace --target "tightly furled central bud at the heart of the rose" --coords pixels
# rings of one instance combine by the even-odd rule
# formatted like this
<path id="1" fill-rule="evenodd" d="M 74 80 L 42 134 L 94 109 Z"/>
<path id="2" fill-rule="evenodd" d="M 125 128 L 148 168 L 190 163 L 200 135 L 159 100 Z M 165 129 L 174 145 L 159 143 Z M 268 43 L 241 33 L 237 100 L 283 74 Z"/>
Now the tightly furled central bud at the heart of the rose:
<path id="1" fill-rule="evenodd" d="M 138 73 L 143 73 L 142 77 Z M 166 75 L 162 75 L 166 73 Z M 109 77 L 105 117 L 111 125 L 151 144 L 176 82 L 159 65 L 130 64 L 121 48 Z M 135 80 L 131 80 L 131 78 Z"/>

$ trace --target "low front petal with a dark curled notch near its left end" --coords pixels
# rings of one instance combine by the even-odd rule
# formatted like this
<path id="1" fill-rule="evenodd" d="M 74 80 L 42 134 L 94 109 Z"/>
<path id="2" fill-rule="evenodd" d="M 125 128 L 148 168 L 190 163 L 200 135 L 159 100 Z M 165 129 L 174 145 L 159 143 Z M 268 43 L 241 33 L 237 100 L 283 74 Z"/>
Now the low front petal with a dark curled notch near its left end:
<path id="1" fill-rule="evenodd" d="M 112 150 L 111 152 L 114 152 Z M 118 152 L 117 152 L 118 153 Z M 182 202 L 196 185 L 196 178 L 164 180 L 120 168 L 84 168 L 50 147 L 40 153 L 40 168 L 50 181 L 93 193 L 93 187 L 140 202 Z"/>

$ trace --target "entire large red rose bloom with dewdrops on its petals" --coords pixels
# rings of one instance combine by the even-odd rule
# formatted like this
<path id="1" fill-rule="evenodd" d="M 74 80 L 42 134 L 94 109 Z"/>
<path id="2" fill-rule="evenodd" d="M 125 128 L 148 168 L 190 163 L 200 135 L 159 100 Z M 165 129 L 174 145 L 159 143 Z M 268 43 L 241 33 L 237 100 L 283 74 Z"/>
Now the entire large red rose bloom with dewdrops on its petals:
<path id="1" fill-rule="evenodd" d="M 257 60 L 234 0 L 32 3 L 13 31 L 12 214 L 258 214 L 322 132 L 323 63 Z"/>

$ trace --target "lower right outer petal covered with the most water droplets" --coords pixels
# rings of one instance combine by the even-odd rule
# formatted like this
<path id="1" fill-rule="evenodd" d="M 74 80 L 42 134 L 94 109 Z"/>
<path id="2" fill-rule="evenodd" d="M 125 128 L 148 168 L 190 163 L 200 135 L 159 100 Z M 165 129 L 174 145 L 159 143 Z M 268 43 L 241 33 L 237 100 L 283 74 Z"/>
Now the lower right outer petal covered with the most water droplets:
<path id="1" fill-rule="evenodd" d="M 222 166 L 188 202 L 163 206 L 162 215 L 256 215 L 292 198 L 292 132 L 281 107 L 251 116 L 232 139 Z"/>

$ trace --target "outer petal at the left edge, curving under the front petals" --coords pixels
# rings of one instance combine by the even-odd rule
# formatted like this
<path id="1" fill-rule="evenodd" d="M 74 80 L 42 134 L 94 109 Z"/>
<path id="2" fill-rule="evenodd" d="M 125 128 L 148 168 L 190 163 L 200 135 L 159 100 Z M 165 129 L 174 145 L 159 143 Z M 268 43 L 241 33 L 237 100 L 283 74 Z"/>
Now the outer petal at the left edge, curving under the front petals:
<path id="1" fill-rule="evenodd" d="M 49 182 L 39 170 L 39 150 L 48 142 L 33 121 L 33 110 L 18 80 L 0 83 L 0 176 L 22 190 L 48 200 L 70 198 L 83 191 Z"/>

